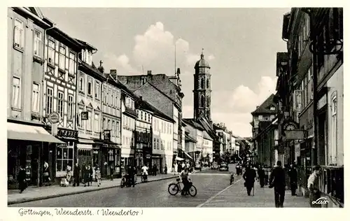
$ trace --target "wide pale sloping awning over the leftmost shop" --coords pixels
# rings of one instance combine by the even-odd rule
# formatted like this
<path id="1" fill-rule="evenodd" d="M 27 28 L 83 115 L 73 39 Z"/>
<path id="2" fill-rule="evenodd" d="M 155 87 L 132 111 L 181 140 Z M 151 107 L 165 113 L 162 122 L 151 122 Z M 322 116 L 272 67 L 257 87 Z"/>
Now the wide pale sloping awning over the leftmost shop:
<path id="1" fill-rule="evenodd" d="M 64 143 L 48 133 L 43 127 L 7 123 L 7 138 L 10 140 Z"/>

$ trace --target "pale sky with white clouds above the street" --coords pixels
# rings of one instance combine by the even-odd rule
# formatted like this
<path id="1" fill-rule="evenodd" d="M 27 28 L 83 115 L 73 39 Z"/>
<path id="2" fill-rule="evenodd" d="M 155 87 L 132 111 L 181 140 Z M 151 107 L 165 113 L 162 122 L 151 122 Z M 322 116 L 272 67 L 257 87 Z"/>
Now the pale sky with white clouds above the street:
<path id="1" fill-rule="evenodd" d="M 183 117 L 193 117 L 195 62 L 211 66 L 211 118 L 252 136 L 251 112 L 276 89 L 276 52 L 286 51 L 290 8 L 41 8 L 73 38 L 98 49 L 95 65 L 119 75 L 181 69 Z"/>

